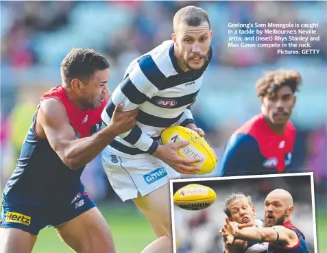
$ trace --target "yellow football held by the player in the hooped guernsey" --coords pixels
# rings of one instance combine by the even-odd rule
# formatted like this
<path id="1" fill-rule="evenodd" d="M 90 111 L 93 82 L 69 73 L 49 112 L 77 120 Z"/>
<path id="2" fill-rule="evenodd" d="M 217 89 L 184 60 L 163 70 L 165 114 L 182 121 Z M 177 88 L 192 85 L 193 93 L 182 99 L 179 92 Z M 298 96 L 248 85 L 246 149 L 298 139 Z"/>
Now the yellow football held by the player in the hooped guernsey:
<path id="1" fill-rule="evenodd" d="M 217 165 L 217 156 L 206 142 L 204 137 L 199 136 L 197 132 L 182 126 L 171 126 L 161 132 L 162 144 L 178 143 L 180 141 L 189 141 L 189 145 L 180 147 L 178 154 L 184 158 L 199 158 L 200 171 L 197 174 L 211 173 Z"/>

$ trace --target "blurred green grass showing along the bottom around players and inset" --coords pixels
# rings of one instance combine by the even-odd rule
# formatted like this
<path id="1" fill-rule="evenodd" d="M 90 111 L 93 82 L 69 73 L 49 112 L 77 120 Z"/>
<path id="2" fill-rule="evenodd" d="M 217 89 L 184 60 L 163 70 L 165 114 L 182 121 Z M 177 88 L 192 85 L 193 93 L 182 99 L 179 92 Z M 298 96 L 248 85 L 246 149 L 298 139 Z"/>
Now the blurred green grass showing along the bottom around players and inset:
<path id="1" fill-rule="evenodd" d="M 117 253 L 140 253 L 156 237 L 147 220 L 135 208 L 100 206 L 112 230 Z M 327 253 L 327 213 L 317 217 L 318 252 Z M 58 238 L 53 228 L 41 230 L 33 253 L 72 252 Z M 200 252 L 199 252 L 200 253 Z M 311 252 L 313 253 L 313 252 Z M 316 252 L 317 253 L 317 252 Z"/>

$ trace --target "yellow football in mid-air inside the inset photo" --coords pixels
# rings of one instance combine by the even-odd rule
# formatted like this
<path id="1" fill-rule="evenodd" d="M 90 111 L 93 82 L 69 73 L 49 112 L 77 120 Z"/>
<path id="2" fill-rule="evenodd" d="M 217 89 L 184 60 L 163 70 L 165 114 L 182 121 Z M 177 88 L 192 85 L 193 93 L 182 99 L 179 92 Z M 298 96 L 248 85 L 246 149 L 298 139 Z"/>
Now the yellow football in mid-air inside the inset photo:
<path id="1" fill-rule="evenodd" d="M 189 184 L 173 195 L 173 202 L 186 210 L 201 210 L 211 206 L 217 199 L 213 189 L 200 184 Z"/>

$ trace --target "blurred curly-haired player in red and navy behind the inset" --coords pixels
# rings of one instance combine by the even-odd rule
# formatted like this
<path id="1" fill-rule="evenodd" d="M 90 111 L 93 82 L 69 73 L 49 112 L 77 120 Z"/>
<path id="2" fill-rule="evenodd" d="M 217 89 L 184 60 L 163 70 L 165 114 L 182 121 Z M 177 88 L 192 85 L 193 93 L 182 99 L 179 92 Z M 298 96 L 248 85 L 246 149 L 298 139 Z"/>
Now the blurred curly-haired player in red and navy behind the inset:
<path id="1" fill-rule="evenodd" d="M 222 158 L 221 176 L 295 172 L 291 167 L 295 127 L 289 121 L 295 106 L 300 73 L 277 70 L 258 80 L 261 113 L 229 138 Z"/>

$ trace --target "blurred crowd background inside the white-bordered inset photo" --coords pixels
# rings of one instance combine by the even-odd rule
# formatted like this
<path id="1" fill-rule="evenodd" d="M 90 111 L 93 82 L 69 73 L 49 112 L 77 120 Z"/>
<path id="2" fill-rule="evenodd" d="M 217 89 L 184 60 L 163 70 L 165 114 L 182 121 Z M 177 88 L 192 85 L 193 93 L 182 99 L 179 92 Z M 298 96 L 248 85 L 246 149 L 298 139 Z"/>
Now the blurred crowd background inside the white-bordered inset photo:
<path id="1" fill-rule="evenodd" d="M 191 184 L 192 182 L 188 182 Z M 293 195 L 291 221 L 306 238 L 309 252 L 314 250 L 313 213 L 310 176 L 263 178 L 247 180 L 213 180 L 195 182 L 211 187 L 217 200 L 207 209 L 189 211 L 174 206 L 176 253 L 221 253 L 223 245 L 219 230 L 225 224 L 225 197 L 237 192 L 250 195 L 256 208 L 256 219 L 265 217 L 265 197 L 274 189 L 285 189 Z M 186 183 L 173 183 L 174 192 Z"/>

